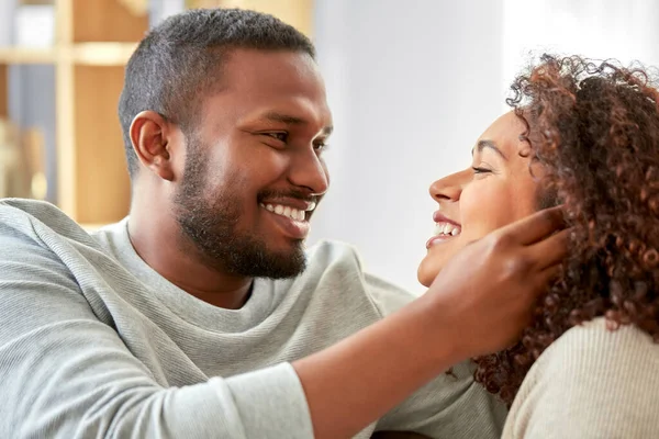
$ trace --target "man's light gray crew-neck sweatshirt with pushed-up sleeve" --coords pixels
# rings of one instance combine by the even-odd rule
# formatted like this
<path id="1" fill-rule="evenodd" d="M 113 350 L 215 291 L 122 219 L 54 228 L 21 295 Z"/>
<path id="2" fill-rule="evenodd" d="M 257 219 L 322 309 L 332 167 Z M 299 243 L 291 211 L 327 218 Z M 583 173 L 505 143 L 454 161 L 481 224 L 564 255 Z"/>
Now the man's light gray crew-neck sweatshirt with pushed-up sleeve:
<path id="1" fill-rule="evenodd" d="M 241 309 L 219 308 L 147 266 L 126 225 L 89 235 L 51 204 L 0 201 L 0 438 L 312 438 L 290 362 L 414 299 L 322 243 L 302 275 L 257 279 Z M 505 409 L 471 371 L 357 438 L 499 437 Z"/>

